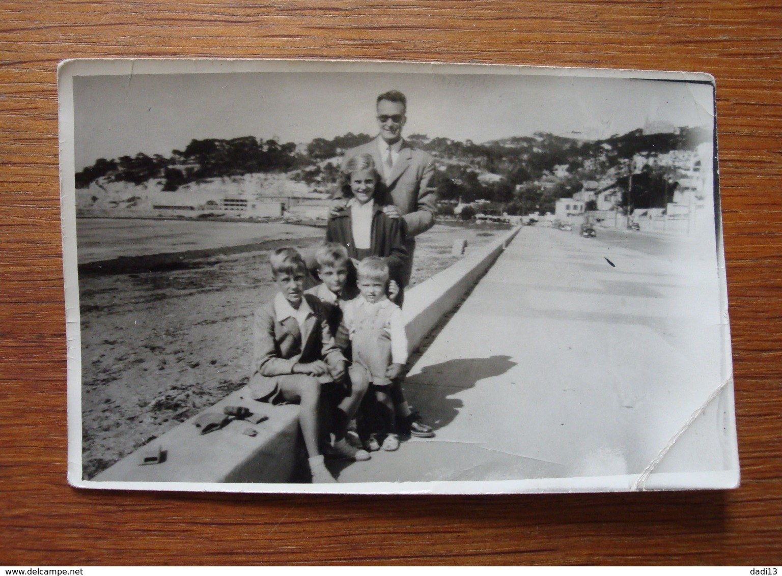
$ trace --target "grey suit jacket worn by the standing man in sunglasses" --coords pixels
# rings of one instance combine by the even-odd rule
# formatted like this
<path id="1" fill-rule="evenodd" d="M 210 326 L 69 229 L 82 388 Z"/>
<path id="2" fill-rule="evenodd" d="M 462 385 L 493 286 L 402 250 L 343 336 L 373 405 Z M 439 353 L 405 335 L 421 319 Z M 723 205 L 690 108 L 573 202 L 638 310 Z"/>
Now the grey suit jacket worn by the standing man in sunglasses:
<path id="1" fill-rule="evenodd" d="M 375 159 L 375 166 L 382 175 L 383 161 L 380 157 L 378 139 L 366 144 L 350 148 L 345 152 L 344 167 L 348 160 L 359 154 L 370 154 Z M 402 147 L 388 181 L 384 182 L 385 199 L 377 199 L 379 203 L 394 204 L 404 215 L 407 224 L 407 238 L 429 230 L 435 224 L 437 214 L 437 193 L 435 188 L 435 159 L 427 152 L 413 148 L 402 141 Z M 341 188 L 340 182 L 340 190 Z M 411 242 L 414 245 L 414 242 Z"/>

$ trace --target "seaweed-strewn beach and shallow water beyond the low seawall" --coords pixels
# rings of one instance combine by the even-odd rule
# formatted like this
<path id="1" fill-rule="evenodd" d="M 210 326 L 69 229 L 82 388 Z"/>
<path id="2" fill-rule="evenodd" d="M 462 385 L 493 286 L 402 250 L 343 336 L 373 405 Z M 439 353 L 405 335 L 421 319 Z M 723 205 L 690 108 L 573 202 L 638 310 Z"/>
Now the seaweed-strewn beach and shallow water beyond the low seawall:
<path id="1" fill-rule="evenodd" d="M 80 250 L 89 246 L 90 261 L 188 255 L 155 271 L 80 271 L 84 478 L 249 381 L 253 309 L 274 295 L 267 251 L 281 243 L 311 248 L 324 232 L 233 226 L 79 220 Z M 503 230 L 437 224 L 418 237 L 411 285 L 457 261 L 454 239 L 467 240 L 469 252 Z"/>

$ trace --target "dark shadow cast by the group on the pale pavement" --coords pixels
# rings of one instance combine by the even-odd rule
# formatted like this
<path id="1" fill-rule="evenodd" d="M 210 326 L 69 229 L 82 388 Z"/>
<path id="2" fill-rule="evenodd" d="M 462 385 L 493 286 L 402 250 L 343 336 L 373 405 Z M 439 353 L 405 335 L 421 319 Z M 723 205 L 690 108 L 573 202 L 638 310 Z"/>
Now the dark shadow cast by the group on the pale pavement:
<path id="1" fill-rule="evenodd" d="M 450 424 L 463 407 L 461 399 L 449 396 L 473 388 L 484 378 L 505 374 L 515 365 L 511 356 L 447 360 L 407 377 L 404 394 L 407 402 L 421 412 L 425 423 L 438 430 Z"/>

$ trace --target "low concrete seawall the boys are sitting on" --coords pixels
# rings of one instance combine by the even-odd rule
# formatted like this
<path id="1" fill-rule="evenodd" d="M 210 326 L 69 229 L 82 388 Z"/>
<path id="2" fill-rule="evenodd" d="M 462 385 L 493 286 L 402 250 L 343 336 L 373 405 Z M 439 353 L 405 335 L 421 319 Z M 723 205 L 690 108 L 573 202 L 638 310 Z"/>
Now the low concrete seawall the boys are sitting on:
<path id="1" fill-rule="evenodd" d="M 514 228 L 405 294 L 404 319 L 411 351 L 489 270 L 519 230 Z M 195 420 L 203 413 L 222 413 L 225 406 L 246 406 L 268 419 L 259 424 L 234 420 L 201 435 Z M 124 489 L 142 488 L 133 484 L 138 482 L 285 482 L 294 469 L 298 436 L 298 406 L 253 401 L 246 387 L 124 457 L 92 481 Z M 158 446 L 166 452 L 165 461 L 139 465 L 142 453 Z M 72 480 L 84 485 L 81 478 Z"/>

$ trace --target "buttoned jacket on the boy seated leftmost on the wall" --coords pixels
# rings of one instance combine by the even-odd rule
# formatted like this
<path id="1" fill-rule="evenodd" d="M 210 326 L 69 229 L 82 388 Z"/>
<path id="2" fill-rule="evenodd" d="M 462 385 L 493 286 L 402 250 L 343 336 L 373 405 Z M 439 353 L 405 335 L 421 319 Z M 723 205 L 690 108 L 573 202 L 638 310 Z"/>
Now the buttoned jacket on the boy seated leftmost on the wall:
<path id="1" fill-rule="evenodd" d="M 302 330 L 295 318 L 288 317 L 282 322 L 277 320 L 274 300 L 255 310 L 250 374 L 254 399 L 274 401 L 279 392 L 280 378 L 292 374 L 296 363 L 325 360 L 333 368 L 344 360 L 328 328 L 325 306 L 314 295 L 305 294 L 304 298 L 313 313 L 304 320 Z M 333 380 L 328 374 L 319 379 L 324 383 Z"/>

